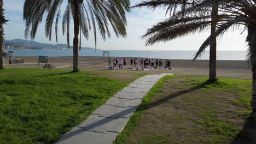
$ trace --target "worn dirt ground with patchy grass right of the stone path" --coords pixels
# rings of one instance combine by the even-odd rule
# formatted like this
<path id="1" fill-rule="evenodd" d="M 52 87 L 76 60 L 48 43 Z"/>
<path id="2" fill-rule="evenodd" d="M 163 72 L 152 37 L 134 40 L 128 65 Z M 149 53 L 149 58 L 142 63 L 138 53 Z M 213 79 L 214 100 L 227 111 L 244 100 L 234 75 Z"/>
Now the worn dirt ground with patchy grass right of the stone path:
<path id="1" fill-rule="evenodd" d="M 167 81 L 127 143 L 238 143 L 246 133 L 256 135 L 256 130 L 248 130 L 248 126 L 241 132 L 245 129 L 246 117 L 238 115 L 241 107 L 232 104 L 237 99 L 236 90 L 191 87 L 184 81 L 184 78 Z M 230 130 L 233 128 L 234 133 Z M 251 140 L 242 143 L 256 143 L 255 137 L 249 138 Z"/>

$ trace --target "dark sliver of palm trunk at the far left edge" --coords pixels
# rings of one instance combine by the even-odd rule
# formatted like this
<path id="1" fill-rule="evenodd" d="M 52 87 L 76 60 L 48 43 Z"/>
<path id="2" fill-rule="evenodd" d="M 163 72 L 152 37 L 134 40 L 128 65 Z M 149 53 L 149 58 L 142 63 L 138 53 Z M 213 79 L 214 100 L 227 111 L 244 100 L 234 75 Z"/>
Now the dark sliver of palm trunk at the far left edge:
<path id="1" fill-rule="evenodd" d="M 4 16 L 4 9 L 3 9 L 3 0 L 0 0 L 0 17 Z M 4 52 L 4 30 L 3 30 L 3 23 L 0 22 L 0 52 Z M 4 68 L 4 58 L 0 57 L 0 69 Z"/>

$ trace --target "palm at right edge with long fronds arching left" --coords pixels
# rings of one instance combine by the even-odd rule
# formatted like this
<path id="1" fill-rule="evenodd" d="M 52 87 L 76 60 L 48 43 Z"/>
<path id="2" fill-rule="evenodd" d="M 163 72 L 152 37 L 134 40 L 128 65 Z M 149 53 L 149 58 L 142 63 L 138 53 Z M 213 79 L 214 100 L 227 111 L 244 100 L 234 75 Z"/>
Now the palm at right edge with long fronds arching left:
<path id="1" fill-rule="evenodd" d="M 149 28 L 143 38 L 147 38 L 147 45 L 152 45 L 201 32 L 212 25 L 213 7 L 214 3 L 210 0 L 197 1 L 188 5 L 183 12 L 178 11 L 174 14 L 177 19 L 166 19 Z M 215 34 L 210 35 L 203 42 L 194 58 L 202 55 L 214 37 L 221 37 L 225 32 L 236 27 L 245 27 L 244 31 L 247 30 L 248 32 L 246 38 L 248 44 L 247 61 L 251 63 L 253 73 L 252 116 L 256 121 L 256 1 L 220 0 L 218 12 Z M 181 13 L 184 13 L 184 17 L 179 16 Z"/>

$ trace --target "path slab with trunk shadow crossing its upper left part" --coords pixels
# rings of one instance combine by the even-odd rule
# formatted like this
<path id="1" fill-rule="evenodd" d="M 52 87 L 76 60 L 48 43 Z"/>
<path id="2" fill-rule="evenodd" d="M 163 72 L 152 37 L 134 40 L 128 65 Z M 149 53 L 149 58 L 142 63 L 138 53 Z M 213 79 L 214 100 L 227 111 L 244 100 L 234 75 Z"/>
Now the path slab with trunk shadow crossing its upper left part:
<path id="1" fill-rule="evenodd" d="M 98 115 L 91 115 L 83 123 L 78 125 L 78 127 L 84 128 L 84 130 L 95 131 L 98 133 L 107 133 L 107 131 L 120 133 L 128 121 L 129 118 L 120 117 L 115 119 L 99 117 Z"/>

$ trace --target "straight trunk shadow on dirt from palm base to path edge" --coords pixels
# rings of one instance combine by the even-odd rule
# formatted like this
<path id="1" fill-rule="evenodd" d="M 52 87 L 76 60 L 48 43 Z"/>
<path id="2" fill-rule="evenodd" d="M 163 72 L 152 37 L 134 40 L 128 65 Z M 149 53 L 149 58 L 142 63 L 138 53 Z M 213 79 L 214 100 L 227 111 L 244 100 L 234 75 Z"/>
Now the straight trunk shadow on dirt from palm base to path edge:
<path id="1" fill-rule="evenodd" d="M 189 88 L 189 89 L 185 89 L 183 91 L 179 91 L 177 93 L 173 93 L 171 95 L 168 95 L 167 97 L 165 98 L 162 98 L 160 100 L 157 100 L 157 101 L 154 101 L 153 103 L 150 103 L 150 104 L 146 104 L 142 107 L 140 107 L 141 109 L 138 109 L 138 110 L 146 110 L 146 109 L 151 109 L 153 107 L 156 107 L 156 106 L 159 106 L 163 103 L 165 103 L 166 101 L 170 100 L 170 99 L 174 99 L 180 95 L 183 95 L 183 94 L 187 94 L 187 93 L 190 93 L 190 92 L 193 92 L 193 91 L 196 91 L 197 89 L 201 89 L 201 88 L 204 88 L 206 87 L 207 85 L 212 85 L 213 83 L 217 82 L 217 80 L 207 80 L 203 83 L 201 83 L 200 85 L 198 86 L 195 86 L 193 88 Z"/>

